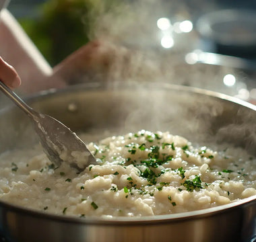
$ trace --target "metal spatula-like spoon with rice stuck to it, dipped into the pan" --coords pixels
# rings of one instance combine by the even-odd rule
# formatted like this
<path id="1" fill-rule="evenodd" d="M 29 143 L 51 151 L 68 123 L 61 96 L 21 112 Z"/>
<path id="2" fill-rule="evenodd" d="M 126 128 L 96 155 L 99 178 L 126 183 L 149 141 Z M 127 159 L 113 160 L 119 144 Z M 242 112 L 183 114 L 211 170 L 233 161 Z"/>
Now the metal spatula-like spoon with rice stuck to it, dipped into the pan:
<path id="1" fill-rule="evenodd" d="M 7 97 L 32 118 L 44 153 L 57 167 L 65 162 L 83 171 L 88 165 L 97 164 L 84 142 L 67 126 L 51 116 L 34 111 L 1 81 L 0 87 Z"/>

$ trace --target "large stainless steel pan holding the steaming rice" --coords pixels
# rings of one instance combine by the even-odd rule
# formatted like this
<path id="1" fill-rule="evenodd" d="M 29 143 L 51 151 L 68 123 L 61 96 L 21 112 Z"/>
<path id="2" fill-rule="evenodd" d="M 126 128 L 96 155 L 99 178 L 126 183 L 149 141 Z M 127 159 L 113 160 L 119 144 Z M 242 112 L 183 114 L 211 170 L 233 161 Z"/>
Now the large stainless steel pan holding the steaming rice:
<path id="1" fill-rule="evenodd" d="M 164 83 L 87 83 L 26 102 L 72 130 L 102 137 L 106 130 L 169 130 L 201 145 L 228 142 L 256 155 L 256 107 L 219 93 Z M 15 107 L 1 110 L 0 152 L 37 142 L 29 122 Z M 256 196 L 194 212 L 114 220 L 56 216 L 0 202 L 6 241 L 253 241 L 255 217 Z"/>

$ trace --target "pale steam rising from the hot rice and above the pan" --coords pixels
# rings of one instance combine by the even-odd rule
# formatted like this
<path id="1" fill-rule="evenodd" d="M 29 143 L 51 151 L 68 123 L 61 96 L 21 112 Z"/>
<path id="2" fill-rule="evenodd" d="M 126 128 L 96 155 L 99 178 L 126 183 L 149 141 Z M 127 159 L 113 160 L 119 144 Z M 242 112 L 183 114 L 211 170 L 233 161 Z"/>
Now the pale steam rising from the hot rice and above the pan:
<path id="1" fill-rule="evenodd" d="M 183 36 L 187 38 L 185 47 L 184 43 L 170 50 L 160 46 L 157 20 L 177 13 L 189 17 L 189 8 L 183 1 L 179 4 L 152 0 L 127 4 L 123 1 L 108 9 L 102 5 L 100 10 L 92 11 L 96 18 L 90 38 L 92 42 L 97 40 L 98 46 L 93 47 L 90 63 L 96 68 L 90 65 L 91 72 L 87 69 L 79 82 L 104 81 L 114 89 L 125 83 L 132 88 L 126 93 L 128 97 L 123 96 L 123 101 L 118 99 L 113 104 L 113 108 L 119 106 L 119 111 L 125 112 L 121 114 L 124 119 L 120 121 L 119 134 L 153 128 L 185 136 L 201 145 L 228 142 L 251 149 L 256 143 L 256 128 L 250 121 L 255 120 L 254 112 L 246 108 L 241 109 L 243 114 L 236 108 L 230 111 L 233 104 L 214 97 L 197 97 L 195 93 L 183 93 L 179 89 L 177 93 L 170 92 L 171 96 L 163 92 L 164 88 L 158 91 L 157 83 L 171 83 L 227 93 L 223 77 L 234 73 L 230 67 L 186 64 L 185 54 L 193 48 L 189 45 L 193 33 Z M 147 89 L 154 83 L 155 88 Z M 234 95 L 232 89 L 228 91 Z"/>

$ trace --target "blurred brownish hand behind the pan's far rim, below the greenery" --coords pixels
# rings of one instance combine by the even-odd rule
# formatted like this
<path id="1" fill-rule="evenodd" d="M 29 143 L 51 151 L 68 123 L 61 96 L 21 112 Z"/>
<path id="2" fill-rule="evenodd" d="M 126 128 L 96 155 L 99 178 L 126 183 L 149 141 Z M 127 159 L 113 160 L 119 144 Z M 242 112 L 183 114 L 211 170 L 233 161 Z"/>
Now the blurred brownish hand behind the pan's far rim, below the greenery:
<path id="1" fill-rule="evenodd" d="M 131 53 L 123 46 L 94 40 L 71 53 L 53 67 L 51 79 L 61 79 L 67 85 L 119 79 L 127 70 Z"/>

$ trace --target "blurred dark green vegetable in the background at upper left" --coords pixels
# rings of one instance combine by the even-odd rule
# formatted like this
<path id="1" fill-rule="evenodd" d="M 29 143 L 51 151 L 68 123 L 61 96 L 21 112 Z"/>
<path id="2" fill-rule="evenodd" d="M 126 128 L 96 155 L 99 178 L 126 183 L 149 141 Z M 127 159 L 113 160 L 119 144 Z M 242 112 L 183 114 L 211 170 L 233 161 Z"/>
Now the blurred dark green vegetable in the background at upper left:
<path id="1" fill-rule="evenodd" d="M 36 19 L 18 19 L 50 65 L 55 66 L 90 40 L 100 16 L 117 0 L 48 0 Z"/>

